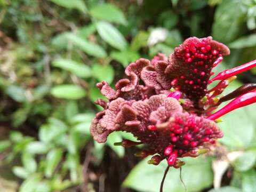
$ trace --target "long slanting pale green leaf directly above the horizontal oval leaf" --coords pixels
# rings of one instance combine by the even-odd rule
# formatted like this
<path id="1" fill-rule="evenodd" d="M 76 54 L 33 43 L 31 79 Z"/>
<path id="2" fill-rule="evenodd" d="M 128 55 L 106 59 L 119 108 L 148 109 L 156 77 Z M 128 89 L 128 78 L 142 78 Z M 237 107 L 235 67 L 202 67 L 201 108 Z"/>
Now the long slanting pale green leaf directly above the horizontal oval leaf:
<path id="1" fill-rule="evenodd" d="M 52 62 L 52 65 L 54 67 L 65 69 L 78 77 L 86 78 L 91 76 L 90 67 L 84 65 L 83 63 L 76 62 L 74 60 L 57 59 Z"/>

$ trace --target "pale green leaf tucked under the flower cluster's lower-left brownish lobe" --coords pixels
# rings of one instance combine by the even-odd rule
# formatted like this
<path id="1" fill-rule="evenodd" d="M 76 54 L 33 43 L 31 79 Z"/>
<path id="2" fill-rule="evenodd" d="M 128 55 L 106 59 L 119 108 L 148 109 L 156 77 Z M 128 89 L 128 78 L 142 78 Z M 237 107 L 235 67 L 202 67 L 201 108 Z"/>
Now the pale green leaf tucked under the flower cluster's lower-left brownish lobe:
<path id="1" fill-rule="evenodd" d="M 113 149 L 115 151 L 115 153 L 119 156 L 119 157 L 123 157 L 124 156 L 124 147 L 122 146 L 115 146 L 114 143 L 115 142 L 121 142 L 122 136 L 121 134 L 119 134 L 118 132 L 113 132 L 110 133 L 108 135 L 108 139 L 107 139 L 107 145 Z"/>

